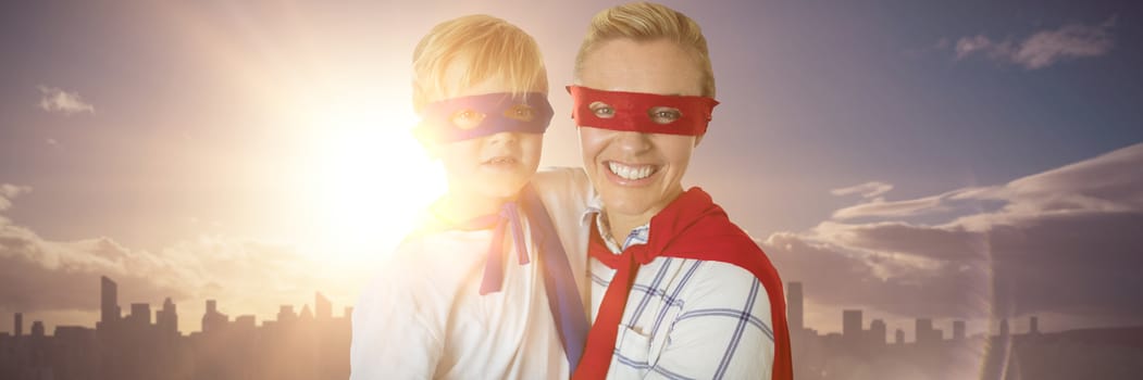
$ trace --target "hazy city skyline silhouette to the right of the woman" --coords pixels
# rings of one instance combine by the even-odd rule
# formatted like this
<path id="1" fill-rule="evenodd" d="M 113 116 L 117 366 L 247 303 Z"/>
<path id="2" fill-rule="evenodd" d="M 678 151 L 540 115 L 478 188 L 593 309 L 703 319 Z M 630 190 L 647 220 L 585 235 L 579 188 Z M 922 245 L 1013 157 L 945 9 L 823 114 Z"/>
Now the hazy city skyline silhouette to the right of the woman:
<path id="1" fill-rule="evenodd" d="M 818 334 L 800 318 L 804 285 L 788 284 L 791 347 L 796 379 L 1140 379 L 1143 375 L 1143 326 L 1044 333 L 1039 317 L 1029 316 L 1025 333 L 1013 333 L 1008 320 L 997 334 L 967 335 L 966 321 L 951 322 L 951 335 L 934 320 L 913 321 L 913 341 L 865 310 L 841 310 L 841 333 Z M 799 310 L 793 312 L 794 305 Z M 873 315 L 870 315 L 871 317 Z M 794 329 L 794 325 L 802 326 Z"/>

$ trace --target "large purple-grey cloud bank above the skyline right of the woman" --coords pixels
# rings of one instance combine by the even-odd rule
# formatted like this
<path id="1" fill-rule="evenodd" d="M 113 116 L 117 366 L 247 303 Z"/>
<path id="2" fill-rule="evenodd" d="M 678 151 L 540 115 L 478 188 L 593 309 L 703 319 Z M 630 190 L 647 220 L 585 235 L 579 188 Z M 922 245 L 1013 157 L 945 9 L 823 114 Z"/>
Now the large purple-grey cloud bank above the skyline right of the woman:
<path id="1" fill-rule="evenodd" d="M 980 204 L 994 204 L 981 208 Z M 949 212 L 949 211 L 952 212 Z M 908 216 L 948 218 L 937 224 Z M 854 223 L 853 218 L 889 220 Z M 1143 144 L 1018 178 L 834 212 L 762 248 L 807 297 L 900 318 L 1143 322 Z"/>

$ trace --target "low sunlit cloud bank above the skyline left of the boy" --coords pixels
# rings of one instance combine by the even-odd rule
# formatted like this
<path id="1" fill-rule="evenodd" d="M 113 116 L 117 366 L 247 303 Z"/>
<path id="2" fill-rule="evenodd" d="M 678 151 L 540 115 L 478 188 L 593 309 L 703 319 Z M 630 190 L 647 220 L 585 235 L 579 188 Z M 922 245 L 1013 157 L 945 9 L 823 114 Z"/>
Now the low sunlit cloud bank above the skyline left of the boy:
<path id="1" fill-rule="evenodd" d="M 0 205 L 27 187 L 0 185 Z M 119 302 L 174 301 L 239 306 L 272 315 L 312 294 L 319 267 L 293 248 L 249 238 L 202 235 L 147 251 L 110 237 L 56 241 L 0 216 L 0 313 L 53 315 L 97 310 L 99 276 L 119 284 Z M 195 307 L 181 307 L 194 310 Z M 190 314 L 194 320 L 194 314 Z M 185 329 L 184 329 L 185 331 Z"/>

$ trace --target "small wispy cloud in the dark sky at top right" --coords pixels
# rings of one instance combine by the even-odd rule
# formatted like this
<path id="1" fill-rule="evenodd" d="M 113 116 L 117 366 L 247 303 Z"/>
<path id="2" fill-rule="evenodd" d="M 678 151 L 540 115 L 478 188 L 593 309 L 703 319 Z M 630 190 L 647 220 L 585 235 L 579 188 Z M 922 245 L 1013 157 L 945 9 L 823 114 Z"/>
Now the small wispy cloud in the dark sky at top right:
<path id="1" fill-rule="evenodd" d="M 1098 25 L 1069 24 L 1057 30 L 1036 32 L 1020 41 L 1012 38 L 993 40 L 977 34 L 960 38 L 953 50 L 957 59 L 984 56 L 1037 70 L 1064 59 L 1098 57 L 1110 52 L 1114 46 L 1110 30 L 1114 24 L 1114 17 Z"/>

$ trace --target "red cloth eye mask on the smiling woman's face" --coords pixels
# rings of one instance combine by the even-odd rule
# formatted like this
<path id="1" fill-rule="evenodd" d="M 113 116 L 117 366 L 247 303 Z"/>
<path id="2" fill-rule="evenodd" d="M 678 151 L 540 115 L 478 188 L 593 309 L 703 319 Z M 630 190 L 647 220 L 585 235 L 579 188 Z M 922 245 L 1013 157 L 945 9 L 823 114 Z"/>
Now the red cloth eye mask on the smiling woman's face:
<path id="1" fill-rule="evenodd" d="M 568 86 L 568 92 L 576 126 L 641 134 L 702 136 L 718 105 L 718 100 L 702 96 L 604 91 L 580 86 Z M 606 107 L 592 111 L 596 102 L 610 107 L 610 113 Z"/>

